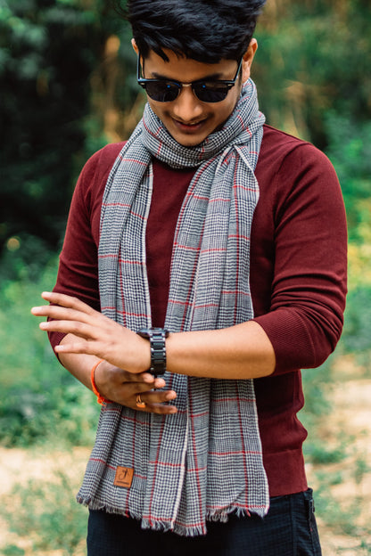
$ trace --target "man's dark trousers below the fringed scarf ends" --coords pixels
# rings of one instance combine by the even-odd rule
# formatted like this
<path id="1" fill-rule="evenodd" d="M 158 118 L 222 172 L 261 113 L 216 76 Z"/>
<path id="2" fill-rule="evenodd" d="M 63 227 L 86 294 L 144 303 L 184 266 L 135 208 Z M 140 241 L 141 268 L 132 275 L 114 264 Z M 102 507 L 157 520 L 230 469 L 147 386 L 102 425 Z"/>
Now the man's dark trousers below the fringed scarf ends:
<path id="1" fill-rule="evenodd" d="M 143 530 L 135 519 L 90 511 L 87 556 L 320 556 L 312 491 L 271 498 L 268 515 L 208 523 L 206 536 Z"/>

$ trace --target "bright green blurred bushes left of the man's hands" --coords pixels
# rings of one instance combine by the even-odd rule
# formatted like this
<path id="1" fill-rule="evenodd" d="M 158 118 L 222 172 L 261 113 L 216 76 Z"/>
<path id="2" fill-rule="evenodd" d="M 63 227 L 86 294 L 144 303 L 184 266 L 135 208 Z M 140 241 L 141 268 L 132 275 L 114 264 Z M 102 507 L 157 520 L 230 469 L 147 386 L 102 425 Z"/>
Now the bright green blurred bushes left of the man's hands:
<path id="1" fill-rule="evenodd" d="M 55 281 L 56 260 L 30 281 L 2 281 L 0 291 L 0 444 L 87 446 L 95 437 L 99 406 L 63 369 L 30 307 Z"/>

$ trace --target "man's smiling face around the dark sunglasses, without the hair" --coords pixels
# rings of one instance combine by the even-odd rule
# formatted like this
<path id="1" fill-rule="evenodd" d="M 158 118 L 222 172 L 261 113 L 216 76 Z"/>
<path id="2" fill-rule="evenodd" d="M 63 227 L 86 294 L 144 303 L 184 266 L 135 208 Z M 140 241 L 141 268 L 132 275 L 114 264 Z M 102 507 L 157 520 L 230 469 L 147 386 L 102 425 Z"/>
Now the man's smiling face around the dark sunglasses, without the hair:
<path id="1" fill-rule="evenodd" d="M 136 43 L 133 47 L 138 53 Z M 257 48 L 255 39 L 251 40 L 248 51 L 243 56 L 242 78 L 237 78 L 224 101 L 202 102 L 194 94 L 192 87 L 183 87 L 177 99 L 172 102 L 157 102 L 147 97 L 153 112 L 161 119 L 163 125 L 173 138 L 185 147 L 202 143 L 212 132 L 222 127 L 235 109 L 242 89 L 242 84 L 250 77 L 251 62 Z M 167 78 L 191 83 L 199 79 L 233 79 L 237 70 L 237 61 L 221 60 L 215 64 L 202 63 L 190 58 L 178 57 L 170 50 L 164 49 L 169 61 L 153 51 L 144 60 L 144 78 Z"/>

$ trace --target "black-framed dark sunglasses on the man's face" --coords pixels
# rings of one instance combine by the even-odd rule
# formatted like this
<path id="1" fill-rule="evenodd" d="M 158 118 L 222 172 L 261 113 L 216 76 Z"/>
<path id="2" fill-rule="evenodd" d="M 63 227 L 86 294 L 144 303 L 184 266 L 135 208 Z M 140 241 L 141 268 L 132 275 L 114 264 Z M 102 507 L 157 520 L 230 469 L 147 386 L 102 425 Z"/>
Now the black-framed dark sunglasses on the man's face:
<path id="1" fill-rule="evenodd" d="M 227 97 L 229 89 L 235 86 L 235 82 L 240 73 L 243 58 L 239 61 L 235 78 L 233 79 L 216 79 L 208 81 L 200 79 L 192 83 L 181 83 L 173 79 L 144 79 L 140 77 L 140 56 L 138 56 L 136 66 L 136 79 L 140 86 L 145 89 L 153 101 L 172 102 L 175 101 L 180 91 L 185 86 L 192 87 L 195 96 L 202 102 L 221 102 Z"/>

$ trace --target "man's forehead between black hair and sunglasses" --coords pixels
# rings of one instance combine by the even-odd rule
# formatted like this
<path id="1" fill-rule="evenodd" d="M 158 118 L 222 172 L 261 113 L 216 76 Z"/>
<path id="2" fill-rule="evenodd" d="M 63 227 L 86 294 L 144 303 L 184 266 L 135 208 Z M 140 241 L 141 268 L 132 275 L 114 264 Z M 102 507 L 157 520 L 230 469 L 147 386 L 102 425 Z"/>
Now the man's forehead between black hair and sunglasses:
<path id="1" fill-rule="evenodd" d="M 171 78 L 190 82 L 203 78 L 231 79 L 235 71 L 235 60 L 221 60 L 217 63 L 203 63 L 192 58 L 180 56 L 164 49 L 169 61 L 151 50 L 144 60 L 145 78 Z M 232 76 L 232 77 L 231 77 Z"/>

